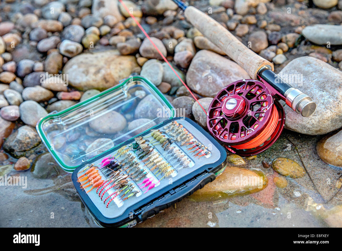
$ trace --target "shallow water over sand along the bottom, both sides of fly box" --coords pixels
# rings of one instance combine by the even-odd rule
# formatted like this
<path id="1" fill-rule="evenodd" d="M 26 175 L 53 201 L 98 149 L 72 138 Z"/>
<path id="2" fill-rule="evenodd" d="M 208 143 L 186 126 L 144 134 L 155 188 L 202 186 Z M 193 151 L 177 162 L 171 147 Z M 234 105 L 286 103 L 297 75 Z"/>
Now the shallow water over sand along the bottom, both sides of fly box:
<path id="1" fill-rule="evenodd" d="M 271 162 L 276 157 L 287 157 L 302 165 L 292 144 L 289 148 L 287 138 L 297 145 L 314 184 L 305 175 L 298 179 L 286 178 L 287 187 L 280 189 L 273 183 L 273 177 L 278 174 L 272 167 L 262 167 L 262 161 Z M 341 215 L 341 208 L 337 206 L 342 205 L 342 193 L 330 198 L 338 191 L 336 182 L 342 170 L 319 159 L 316 142 L 320 138 L 322 136 L 285 130 L 270 149 L 240 166 L 260 168 L 269 181 L 264 190 L 203 201 L 190 196 L 137 227 L 326 227 L 341 224 L 332 213 Z M 70 174 L 61 170 L 57 178 L 36 179 L 30 171 L 12 170 L 9 175 L 26 176 L 27 188 L 0 187 L 1 227 L 97 226 L 79 199 Z"/>

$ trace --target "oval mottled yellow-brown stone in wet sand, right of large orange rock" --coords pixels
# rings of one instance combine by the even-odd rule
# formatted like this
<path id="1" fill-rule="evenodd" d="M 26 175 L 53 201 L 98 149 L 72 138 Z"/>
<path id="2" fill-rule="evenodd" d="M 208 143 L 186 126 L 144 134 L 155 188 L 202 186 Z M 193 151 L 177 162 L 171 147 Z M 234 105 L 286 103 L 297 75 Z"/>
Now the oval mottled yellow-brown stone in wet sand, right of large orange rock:
<path id="1" fill-rule="evenodd" d="M 305 175 L 305 169 L 289 158 L 274 159 L 272 167 L 277 173 L 293 179 L 302 178 Z"/>

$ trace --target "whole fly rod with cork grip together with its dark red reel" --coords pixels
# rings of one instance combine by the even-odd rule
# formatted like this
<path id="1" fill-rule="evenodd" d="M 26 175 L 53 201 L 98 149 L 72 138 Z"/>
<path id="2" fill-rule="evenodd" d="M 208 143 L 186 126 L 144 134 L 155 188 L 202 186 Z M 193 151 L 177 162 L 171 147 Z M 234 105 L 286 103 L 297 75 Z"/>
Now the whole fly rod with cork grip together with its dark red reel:
<path id="1" fill-rule="evenodd" d="M 311 97 L 274 73 L 271 62 L 247 48 L 207 14 L 186 6 L 180 0 L 173 2 L 203 36 L 253 78 L 228 84 L 216 94 L 208 108 L 208 130 L 227 150 L 241 156 L 252 156 L 271 147 L 285 124 L 285 111 L 279 99 L 303 117 L 315 111 L 316 103 Z"/>

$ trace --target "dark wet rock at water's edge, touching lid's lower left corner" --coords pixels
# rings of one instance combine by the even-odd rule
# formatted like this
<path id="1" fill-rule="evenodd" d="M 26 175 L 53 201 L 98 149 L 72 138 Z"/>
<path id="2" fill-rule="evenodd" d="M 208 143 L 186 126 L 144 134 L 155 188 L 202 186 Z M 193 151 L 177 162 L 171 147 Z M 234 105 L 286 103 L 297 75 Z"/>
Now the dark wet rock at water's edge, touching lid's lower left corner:
<path id="1" fill-rule="evenodd" d="M 32 164 L 31 174 L 36 179 L 51 179 L 60 175 L 60 166 L 50 153 L 39 155 Z"/>

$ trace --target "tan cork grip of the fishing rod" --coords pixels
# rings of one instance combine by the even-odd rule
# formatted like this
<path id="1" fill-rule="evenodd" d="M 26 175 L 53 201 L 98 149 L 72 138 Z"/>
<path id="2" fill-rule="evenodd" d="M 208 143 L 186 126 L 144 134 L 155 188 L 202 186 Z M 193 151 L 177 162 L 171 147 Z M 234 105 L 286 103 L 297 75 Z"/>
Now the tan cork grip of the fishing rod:
<path id="1" fill-rule="evenodd" d="M 271 62 L 247 48 L 231 32 L 205 13 L 188 6 L 184 15 L 205 37 L 244 68 L 251 78 L 257 79 L 258 71 L 264 66 L 274 70 Z"/>

